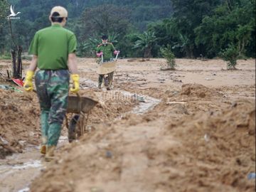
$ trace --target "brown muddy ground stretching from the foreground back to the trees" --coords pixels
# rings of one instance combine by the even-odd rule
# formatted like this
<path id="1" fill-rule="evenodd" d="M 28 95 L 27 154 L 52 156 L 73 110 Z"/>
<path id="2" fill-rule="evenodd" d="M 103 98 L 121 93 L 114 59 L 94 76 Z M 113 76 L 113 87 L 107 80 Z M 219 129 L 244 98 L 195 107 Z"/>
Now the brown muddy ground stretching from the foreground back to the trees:
<path id="1" fill-rule="evenodd" d="M 161 59 L 118 63 L 107 92 L 96 88 L 95 60 L 78 60 L 81 94 L 99 101 L 88 132 L 60 144 L 50 164 L 37 149 L 23 161 L 0 160 L 43 164 L 32 183 L 19 174 L 35 169 L 2 171 L 0 191 L 29 183 L 30 191 L 255 191 L 247 178 L 255 172 L 255 60 L 239 60 L 238 70 L 225 70 L 222 60 L 178 59 L 174 71 L 160 70 Z M 9 63 L 0 65 L 4 73 Z M 40 144 L 36 95 L 0 89 L 0 97 L 1 158 L 26 155 L 26 147 Z"/>

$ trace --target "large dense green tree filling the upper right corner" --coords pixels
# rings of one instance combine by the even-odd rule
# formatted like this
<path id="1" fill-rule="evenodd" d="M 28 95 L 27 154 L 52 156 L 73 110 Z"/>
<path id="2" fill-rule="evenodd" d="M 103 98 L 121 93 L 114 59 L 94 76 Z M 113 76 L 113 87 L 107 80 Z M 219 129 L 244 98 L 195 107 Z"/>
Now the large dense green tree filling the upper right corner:
<path id="1" fill-rule="evenodd" d="M 196 45 L 203 46 L 208 57 L 233 44 L 240 56 L 255 56 L 255 1 L 225 1 L 203 18 L 195 28 Z"/>

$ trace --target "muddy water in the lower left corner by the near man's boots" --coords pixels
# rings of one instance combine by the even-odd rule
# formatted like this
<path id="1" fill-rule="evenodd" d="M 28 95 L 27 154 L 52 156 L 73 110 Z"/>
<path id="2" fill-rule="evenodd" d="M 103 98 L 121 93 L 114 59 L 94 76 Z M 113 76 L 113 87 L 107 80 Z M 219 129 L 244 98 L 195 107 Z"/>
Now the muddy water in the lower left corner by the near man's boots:
<path id="1" fill-rule="evenodd" d="M 68 143 L 67 136 L 61 136 L 58 147 Z M 39 146 L 28 145 L 22 154 L 7 156 L 0 160 L 0 191 L 26 192 L 33 178 L 46 169 L 47 163 L 39 153 Z"/>

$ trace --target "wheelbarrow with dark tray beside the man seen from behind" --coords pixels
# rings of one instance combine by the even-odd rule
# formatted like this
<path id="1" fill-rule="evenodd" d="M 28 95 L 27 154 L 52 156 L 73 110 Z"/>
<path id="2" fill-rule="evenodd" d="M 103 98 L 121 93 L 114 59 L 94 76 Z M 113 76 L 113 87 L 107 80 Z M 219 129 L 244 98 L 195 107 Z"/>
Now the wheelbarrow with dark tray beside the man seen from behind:
<path id="1" fill-rule="evenodd" d="M 87 120 L 89 119 L 90 111 L 97 101 L 92 100 L 89 97 L 68 96 L 68 109 L 67 113 L 72 113 L 72 118 L 68 124 L 68 117 L 66 118 L 66 127 L 68 128 L 68 141 L 73 142 L 73 140 L 78 139 L 83 134 L 85 134 Z"/>

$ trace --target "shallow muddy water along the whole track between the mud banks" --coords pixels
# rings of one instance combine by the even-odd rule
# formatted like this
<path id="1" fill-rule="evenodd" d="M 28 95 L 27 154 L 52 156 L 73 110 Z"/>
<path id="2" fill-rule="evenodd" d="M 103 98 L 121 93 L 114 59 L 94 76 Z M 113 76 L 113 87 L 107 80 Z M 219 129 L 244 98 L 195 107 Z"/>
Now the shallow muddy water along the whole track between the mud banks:
<path id="1" fill-rule="evenodd" d="M 81 80 L 83 88 L 97 87 L 97 82 L 92 80 Z M 105 91 L 103 89 L 102 91 Z M 157 105 L 160 100 L 145 95 L 136 95 L 132 92 L 123 90 L 111 91 L 113 94 L 121 92 L 125 97 L 135 97 L 139 100 L 139 105 L 134 107 L 131 112 L 135 114 L 143 114 L 151 110 Z M 123 116 L 124 114 L 122 114 Z M 120 118 L 122 117 L 120 116 Z M 119 118 L 117 118 L 119 119 Z M 60 137 L 58 147 L 68 143 L 68 137 Z M 33 178 L 41 173 L 41 170 L 46 169 L 47 163 L 43 161 L 43 157 L 39 153 L 39 146 L 27 146 L 22 154 L 14 154 L 8 156 L 4 160 L 0 160 L 0 191 L 1 192 L 26 192 L 29 191 L 29 185 Z"/>

